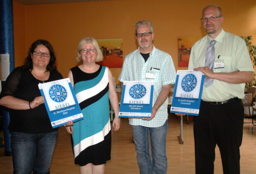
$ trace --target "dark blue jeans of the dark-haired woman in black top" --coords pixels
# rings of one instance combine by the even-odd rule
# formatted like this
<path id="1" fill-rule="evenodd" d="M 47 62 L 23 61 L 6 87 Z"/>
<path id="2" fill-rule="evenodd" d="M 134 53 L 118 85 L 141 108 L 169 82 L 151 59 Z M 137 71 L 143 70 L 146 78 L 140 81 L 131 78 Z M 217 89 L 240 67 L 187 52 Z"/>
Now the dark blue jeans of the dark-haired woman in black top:
<path id="1" fill-rule="evenodd" d="M 49 174 L 58 131 L 47 133 L 11 133 L 14 174 Z"/>

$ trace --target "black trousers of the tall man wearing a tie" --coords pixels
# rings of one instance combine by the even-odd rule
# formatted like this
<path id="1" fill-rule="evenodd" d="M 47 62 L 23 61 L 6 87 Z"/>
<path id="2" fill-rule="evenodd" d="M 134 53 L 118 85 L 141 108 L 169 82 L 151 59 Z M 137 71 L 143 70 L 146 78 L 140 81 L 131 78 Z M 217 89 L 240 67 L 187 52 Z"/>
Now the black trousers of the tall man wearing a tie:
<path id="1" fill-rule="evenodd" d="M 194 119 L 196 174 L 213 174 L 215 147 L 220 149 L 223 174 L 240 173 L 244 107 L 241 100 L 222 105 L 201 101 Z"/>

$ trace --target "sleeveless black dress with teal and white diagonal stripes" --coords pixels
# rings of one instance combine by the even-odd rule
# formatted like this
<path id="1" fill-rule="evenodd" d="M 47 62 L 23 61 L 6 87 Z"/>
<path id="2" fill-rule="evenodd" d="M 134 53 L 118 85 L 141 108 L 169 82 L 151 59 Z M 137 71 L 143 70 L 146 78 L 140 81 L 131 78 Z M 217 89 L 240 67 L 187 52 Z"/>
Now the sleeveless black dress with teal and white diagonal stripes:
<path id="1" fill-rule="evenodd" d="M 73 125 L 75 164 L 105 164 L 110 160 L 111 151 L 109 68 L 100 66 L 97 72 L 90 74 L 79 67 L 73 67 L 71 71 L 74 91 L 84 116 Z"/>

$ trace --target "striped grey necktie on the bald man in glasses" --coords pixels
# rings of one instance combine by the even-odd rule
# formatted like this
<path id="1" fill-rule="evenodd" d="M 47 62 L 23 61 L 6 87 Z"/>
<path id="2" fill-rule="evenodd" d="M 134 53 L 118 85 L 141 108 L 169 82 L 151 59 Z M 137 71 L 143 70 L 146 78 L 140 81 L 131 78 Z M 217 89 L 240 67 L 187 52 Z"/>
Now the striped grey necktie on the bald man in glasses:
<path id="1" fill-rule="evenodd" d="M 215 60 L 215 50 L 214 44 L 216 43 L 215 40 L 210 41 L 210 44 L 207 48 L 206 55 L 205 55 L 205 67 L 208 67 L 211 71 L 213 71 L 213 64 Z M 213 84 L 213 79 L 208 79 L 205 77 L 204 85 L 205 87 L 211 86 Z"/>

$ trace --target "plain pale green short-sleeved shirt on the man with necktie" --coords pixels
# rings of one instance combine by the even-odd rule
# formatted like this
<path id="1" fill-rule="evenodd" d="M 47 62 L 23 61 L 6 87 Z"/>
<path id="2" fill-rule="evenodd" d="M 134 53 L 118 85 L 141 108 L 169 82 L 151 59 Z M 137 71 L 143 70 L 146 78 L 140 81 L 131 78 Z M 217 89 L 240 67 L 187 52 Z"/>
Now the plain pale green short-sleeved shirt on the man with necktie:
<path id="1" fill-rule="evenodd" d="M 192 49 L 188 63 L 188 69 L 205 67 L 205 52 L 212 39 L 206 35 L 197 41 Z M 224 68 L 214 69 L 213 72 L 254 72 L 252 62 L 246 44 L 242 38 L 223 29 L 214 39 L 215 62 L 224 62 Z M 231 98 L 244 98 L 245 83 L 233 84 L 220 80 L 213 80 L 213 85 L 206 88 L 203 86 L 202 100 L 211 102 L 222 102 Z"/>

